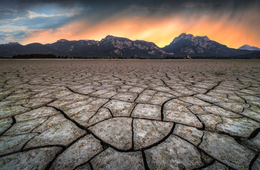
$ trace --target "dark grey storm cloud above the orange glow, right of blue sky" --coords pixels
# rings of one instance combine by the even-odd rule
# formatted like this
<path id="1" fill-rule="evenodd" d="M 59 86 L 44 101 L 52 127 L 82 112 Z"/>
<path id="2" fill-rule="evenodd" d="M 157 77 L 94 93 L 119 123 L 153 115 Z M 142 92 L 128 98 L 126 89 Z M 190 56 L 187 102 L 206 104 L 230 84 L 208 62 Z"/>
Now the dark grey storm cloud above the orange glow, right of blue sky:
<path id="1" fill-rule="evenodd" d="M 28 1 L 28 4 L 31 1 Z M 43 3 L 40 1 L 38 3 Z M 144 1 L 44 1 L 44 3 L 53 3 L 63 8 L 72 8 L 72 6 L 82 6 L 84 10 L 78 18 L 92 17 L 89 22 L 98 23 L 107 18 L 123 13 L 124 16 L 146 16 L 163 17 L 171 13 L 183 14 L 186 16 L 199 14 L 214 14 L 221 16 L 229 13 L 230 19 L 243 15 L 247 11 L 258 11 L 260 8 L 259 0 L 144 0 Z M 123 17 L 124 17 L 123 16 Z"/>

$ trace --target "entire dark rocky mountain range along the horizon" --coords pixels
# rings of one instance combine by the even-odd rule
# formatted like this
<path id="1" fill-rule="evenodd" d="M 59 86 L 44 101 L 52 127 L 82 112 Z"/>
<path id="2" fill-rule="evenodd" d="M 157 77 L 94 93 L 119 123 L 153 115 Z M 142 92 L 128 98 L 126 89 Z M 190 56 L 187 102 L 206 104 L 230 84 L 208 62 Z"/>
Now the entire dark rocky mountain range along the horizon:
<path id="1" fill-rule="evenodd" d="M 242 46 L 244 47 L 244 46 Z M 250 48 L 251 49 L 251 48 Z M 244 48 L 234 49 L 210 40 L 207 36 L 193 36 L 182 33 L 174 38 L 166 47 L 158 47 L 153 42 L 129 40 L 127 38 L 107 35 L 97 40 L 65 40 L 61 39 L 51 44 L 31 43 L 21 45 L 9 42 L 0 45 L 0 56 L 11 57 L 24 54 L 53 54 L 68 57 L 232 57 L 247 56 L 256 51 Z M 258 55 L 258 53 L 256 54 Z M 259 55 L 260 56 L 260 55 Z"/>

